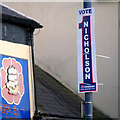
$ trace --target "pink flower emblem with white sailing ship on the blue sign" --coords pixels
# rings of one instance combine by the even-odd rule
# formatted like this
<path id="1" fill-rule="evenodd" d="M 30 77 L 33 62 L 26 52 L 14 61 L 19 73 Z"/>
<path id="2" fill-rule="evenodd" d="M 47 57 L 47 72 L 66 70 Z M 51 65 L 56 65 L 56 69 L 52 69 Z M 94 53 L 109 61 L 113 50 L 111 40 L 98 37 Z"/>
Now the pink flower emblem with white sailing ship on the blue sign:
<path id="1" fill-rule="evenodd" d="M 19 105 L 24 94 L 21 64 L 14 58 L 4 58 L 0 72 L 2 97 L 8 104 Z"/>

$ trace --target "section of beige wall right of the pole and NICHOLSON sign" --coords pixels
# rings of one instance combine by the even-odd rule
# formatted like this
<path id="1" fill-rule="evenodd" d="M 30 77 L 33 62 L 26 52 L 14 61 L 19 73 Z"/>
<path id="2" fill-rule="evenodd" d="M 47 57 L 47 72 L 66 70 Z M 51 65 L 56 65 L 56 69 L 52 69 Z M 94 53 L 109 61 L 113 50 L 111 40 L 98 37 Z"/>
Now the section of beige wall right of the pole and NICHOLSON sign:
<path id="1" fill-rule="evenodd" d="M 97 54 L 110 59 L 97 57 L 98 82 L 104 85 L 94 94 L 94 101 L 114 118 L 118 116 L 118 4 L 99 3 L 95 9 Z"/>

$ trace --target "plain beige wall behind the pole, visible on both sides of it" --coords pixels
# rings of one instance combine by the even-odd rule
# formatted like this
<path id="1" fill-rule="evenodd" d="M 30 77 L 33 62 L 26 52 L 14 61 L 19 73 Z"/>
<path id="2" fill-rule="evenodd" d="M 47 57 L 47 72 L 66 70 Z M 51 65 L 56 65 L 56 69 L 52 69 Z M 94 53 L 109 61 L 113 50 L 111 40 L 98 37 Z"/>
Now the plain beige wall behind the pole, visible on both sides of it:
<path id="1" fill-rule="evenodd" d="M 77 10 L 82 3 L 5 3 L 44 26 L 35 38 L 35 62 L 77 93 Z M 94 105 L 118 116 L 118 3 L 94 3 L 98 82 Z M 35 32 L 37 34 L 38 31 Z M 83 96 L 82 94 L 80 96 Z"/>

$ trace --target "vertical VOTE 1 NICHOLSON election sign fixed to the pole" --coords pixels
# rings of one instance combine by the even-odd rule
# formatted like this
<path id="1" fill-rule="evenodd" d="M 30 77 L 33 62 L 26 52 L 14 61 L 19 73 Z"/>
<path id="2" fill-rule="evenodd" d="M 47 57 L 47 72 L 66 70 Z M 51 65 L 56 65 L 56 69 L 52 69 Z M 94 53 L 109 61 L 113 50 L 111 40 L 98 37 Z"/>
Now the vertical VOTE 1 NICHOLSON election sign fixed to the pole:
<path id="1" fill-rule="evenodd" d="M 94 8 L 77 11 L 78 93 L 97 92 Z"/>

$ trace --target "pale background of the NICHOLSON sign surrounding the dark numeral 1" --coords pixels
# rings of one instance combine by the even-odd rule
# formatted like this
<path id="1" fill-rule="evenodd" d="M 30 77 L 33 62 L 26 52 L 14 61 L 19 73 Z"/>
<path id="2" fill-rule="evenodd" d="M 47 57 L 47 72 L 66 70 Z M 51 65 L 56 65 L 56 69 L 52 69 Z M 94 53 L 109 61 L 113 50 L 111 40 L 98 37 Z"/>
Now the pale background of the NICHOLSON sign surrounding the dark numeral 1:
<path id="1" fill-rule="evenodd" d="M 93 71 L 93 82 L 96 82 L 96 91 L 97 92 L 97 69 L 96 69 L 96 49 L 95 49 L 95 32 L 94 32 L 94 8 L 86 8 L 82 10 L 91 9 L 92 13 L 79 14 L 77 11 L 77 65 L 78 65 L 78 93 L 81 93 L 79 90 L 79 84 L 83 83 L 83 62 L 82 62 L 82 29 L 79 29 L 79 23 L 82 22 L 83 16 L 90 15 L 91 23 L 91 50 L 92 50 L 92 71 Z M 84 93 L 84 92 L 82 92 Z"/>

